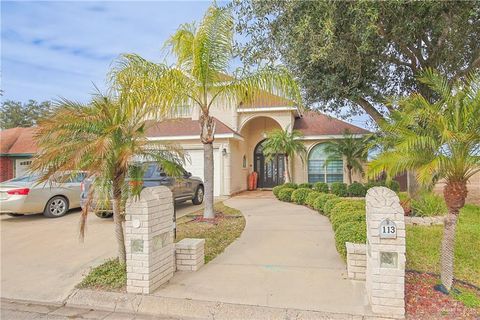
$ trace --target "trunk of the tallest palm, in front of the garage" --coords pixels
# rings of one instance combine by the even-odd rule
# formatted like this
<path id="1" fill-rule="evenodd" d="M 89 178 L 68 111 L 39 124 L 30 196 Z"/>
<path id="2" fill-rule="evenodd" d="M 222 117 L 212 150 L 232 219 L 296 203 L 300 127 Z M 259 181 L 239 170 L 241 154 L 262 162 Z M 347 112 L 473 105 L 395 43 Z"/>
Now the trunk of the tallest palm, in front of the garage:
<path id="1" fill-rule="evenodd" d="M 213 141 L 215 140 L 215 121 L 208 114 L 202 114 L 200 117 L 200 140 L 203 143 L 203 183 L 205 186 L 205 209 L 203 217 L 205 219 L 215 218 L 213 210 L 213 185 L 214 185 L 214 161 L 213 161 Z"/>

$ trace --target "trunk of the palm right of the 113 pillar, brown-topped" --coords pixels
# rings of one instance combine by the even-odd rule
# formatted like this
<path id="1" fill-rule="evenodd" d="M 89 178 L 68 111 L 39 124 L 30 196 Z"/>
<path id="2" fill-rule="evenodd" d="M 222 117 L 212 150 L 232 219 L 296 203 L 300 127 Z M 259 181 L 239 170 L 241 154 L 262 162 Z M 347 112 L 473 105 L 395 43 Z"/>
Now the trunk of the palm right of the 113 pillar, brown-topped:
<path id="1" fill-rule="evenodd" d="M 455 255 L 455 229 L 460 209 L 465 205 L 467 197 L 467 184 L 465 181 L 447 181 L 443 189 L 443 196 L 448 207 L 445 218 L 442 239 L 441 280 L 446 291 L 450 291 L 453 284 L 454 255 Z"/>

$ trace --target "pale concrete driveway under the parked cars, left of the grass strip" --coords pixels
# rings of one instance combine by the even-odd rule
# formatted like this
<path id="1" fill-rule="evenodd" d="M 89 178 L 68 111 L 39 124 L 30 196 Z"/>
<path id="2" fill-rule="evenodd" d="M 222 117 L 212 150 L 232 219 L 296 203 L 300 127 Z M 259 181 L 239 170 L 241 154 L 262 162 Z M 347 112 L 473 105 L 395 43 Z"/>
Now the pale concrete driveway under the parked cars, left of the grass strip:
<path id="1" fill-rule="evenodd" d="M 216 199 L 222 200 L 221 198 Z M 201 209 L 177 205 L 177 217 Z M 112 219 L 88 216 L 85 241 L 79 240 L 80 210 L 48 219 L 41 214 L 0 217 L 2 298 L 60 302 L 90 267 L 116 254 Z"/>

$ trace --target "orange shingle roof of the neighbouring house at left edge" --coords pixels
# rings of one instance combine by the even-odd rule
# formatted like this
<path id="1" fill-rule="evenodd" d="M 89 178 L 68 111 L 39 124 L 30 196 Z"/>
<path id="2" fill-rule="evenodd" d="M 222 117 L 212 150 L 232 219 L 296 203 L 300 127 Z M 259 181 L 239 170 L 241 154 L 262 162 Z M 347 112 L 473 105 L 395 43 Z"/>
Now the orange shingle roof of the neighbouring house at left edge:
<path id="1" fill-rule="evenodd" d="M 34 140 L 35 128 L 11 128 L 0 131 L 1 154 L 32 154 L 38 148 Z"/>

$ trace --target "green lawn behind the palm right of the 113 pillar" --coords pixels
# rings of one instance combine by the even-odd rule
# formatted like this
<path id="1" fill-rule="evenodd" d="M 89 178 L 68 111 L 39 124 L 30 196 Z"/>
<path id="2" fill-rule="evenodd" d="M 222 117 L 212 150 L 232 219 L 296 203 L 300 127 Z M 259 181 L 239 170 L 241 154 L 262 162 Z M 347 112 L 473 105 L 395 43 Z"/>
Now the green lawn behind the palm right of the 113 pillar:
<path id="1" fill-rule="evenodd" d="M 407 268 L 440 273 L 443 226 L 407 226 Z M 480 207 L 460 212 L 455 238 L 455 278 L 480 286 Z"/>

